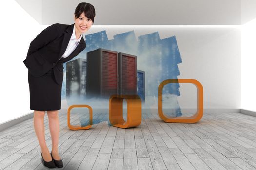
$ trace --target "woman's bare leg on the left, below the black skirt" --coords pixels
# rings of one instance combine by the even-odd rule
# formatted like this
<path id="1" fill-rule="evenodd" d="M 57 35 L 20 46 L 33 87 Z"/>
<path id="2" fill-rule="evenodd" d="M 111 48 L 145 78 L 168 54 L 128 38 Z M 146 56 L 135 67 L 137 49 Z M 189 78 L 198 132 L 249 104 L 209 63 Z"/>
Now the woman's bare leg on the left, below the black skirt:
<path id="1" fill-rule="evenodd" d="M 49 149 L 47 148 L 47 145 L 45 142 L 44 114 L 45 114 L 45 111 L 34 110 L 34 129 L 39 141 L 39 145 L 41 147 L 43 159 L 48 162 L 52 160 L 52 157 L 50 155 Z"/>

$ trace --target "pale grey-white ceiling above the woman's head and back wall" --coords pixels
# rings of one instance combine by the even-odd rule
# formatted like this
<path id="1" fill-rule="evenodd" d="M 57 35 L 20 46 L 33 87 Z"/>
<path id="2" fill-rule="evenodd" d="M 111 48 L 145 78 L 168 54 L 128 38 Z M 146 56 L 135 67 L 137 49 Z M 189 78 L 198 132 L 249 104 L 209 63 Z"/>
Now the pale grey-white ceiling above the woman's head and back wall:
<path id="1" fill-rule="evenodd" d="M 73 23 L 82 0 L 16 0 L 40 24 Z M 256 0 L 86 0 L 96 25 L 240 25 L 256 18 Z"/>

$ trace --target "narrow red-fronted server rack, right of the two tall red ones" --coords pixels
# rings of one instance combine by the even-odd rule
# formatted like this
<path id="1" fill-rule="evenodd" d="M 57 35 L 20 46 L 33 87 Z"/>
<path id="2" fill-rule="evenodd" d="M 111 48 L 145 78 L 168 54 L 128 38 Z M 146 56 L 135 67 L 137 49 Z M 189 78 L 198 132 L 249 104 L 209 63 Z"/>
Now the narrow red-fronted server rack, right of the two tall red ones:
<path id="1" fill-rule="evenodd" d="M 137 57 L 119 52 L 119 94 L 137 94 Z"/>

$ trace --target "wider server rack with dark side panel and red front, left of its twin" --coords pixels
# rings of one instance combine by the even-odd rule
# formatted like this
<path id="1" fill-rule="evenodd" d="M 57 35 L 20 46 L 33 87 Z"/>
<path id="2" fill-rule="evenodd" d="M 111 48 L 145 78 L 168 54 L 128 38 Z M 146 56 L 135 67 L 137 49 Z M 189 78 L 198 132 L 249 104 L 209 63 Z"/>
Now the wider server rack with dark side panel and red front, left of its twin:
<path id="1" fill-rule="evenodd" d="M 102 48 L 87 52 L 86 74 L 88 97 L 118 94 L 118 52 Z"/>

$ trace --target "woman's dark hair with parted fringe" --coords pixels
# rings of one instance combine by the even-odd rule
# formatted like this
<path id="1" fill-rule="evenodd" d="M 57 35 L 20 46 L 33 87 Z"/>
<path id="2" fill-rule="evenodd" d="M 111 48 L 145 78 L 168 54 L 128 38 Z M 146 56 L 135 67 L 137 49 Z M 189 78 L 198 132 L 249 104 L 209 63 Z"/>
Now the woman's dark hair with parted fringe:
<path id="1" fill-rule="evenodd" d="M 83 12 L 85 17 L 91 19 L 94 22 L 95 9 L 92 4 L 86 2 L 79 3 L 75 9 L 75 17 L 79 18 Z"/>

